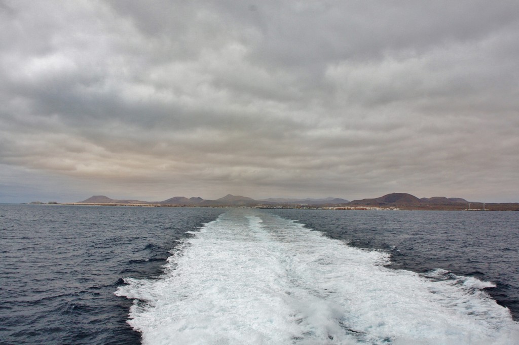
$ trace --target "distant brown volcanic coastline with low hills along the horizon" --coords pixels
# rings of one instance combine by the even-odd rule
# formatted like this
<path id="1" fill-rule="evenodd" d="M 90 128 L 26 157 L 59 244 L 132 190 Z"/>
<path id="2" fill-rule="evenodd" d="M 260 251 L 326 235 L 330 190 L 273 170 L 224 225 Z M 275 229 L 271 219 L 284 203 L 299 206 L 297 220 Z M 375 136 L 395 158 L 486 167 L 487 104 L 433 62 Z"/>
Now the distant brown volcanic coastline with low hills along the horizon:
<path id="1" fill-rule="evenodd" d="M 54 201 L 49 203 L 56 204 Z M 268 198 L 255 200 L 249 197 L 231 194 L 216 200 L 205 200 L 200 197 L 173 197 L 163 201 L 142 201 L 133 199 L 111 199 L 103 195 L 95 195 L 83 201 L 66 204 L 175 207 L 254 207 L 265 209 L 519 211 L 519 203 L 517 202 L 483 203 L 477 201 L 467 201 L 462 198 L 417 198 L 407 193 L 390 193 L 379 198 L 353 201 L 341 198 Z"/>

